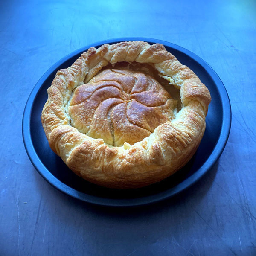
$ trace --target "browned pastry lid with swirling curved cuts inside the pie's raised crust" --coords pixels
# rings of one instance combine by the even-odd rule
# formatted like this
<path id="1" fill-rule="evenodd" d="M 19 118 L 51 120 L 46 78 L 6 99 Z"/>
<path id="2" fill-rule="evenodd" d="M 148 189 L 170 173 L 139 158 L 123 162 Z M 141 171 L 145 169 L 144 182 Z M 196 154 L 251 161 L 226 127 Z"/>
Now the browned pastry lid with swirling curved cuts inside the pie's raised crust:
<path id="1" fill-rule="evenodd" d="M 152 76 L 128 68 L 106 69 L 74 90 L 68 111 L 78 131 L 122 146 L 171 121 L 176 104 Z"/>

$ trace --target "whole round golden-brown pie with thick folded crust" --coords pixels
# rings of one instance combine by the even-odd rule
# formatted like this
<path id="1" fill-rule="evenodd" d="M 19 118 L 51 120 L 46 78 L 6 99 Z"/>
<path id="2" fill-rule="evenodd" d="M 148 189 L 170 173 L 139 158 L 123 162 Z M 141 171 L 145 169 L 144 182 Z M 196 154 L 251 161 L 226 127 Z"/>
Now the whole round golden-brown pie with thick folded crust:
<path id="1" fill-rule="evenodd" d="M 143 41 L 88 49 L 47 92 L 41 121 L 52 150 L 85 180 L 122 189 L 184 166 L 211 101 L 192 70 Z"/>

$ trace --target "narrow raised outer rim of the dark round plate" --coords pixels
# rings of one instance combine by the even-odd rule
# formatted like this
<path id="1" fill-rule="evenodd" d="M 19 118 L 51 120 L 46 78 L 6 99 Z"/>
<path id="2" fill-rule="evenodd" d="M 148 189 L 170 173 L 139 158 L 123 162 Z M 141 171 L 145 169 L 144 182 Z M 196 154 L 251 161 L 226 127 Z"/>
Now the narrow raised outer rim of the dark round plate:
<path id="1" fill-rule="evenodd" d="M 159 192 L 157 194 L 143 196 L 140 198 L 125 198 L 125 199 L 101 198 L 95 195 L 89 195 L 84 192 L 77 191 L 76 189 L 73 189 L 70 186 L 62 183 L 60 180 L 58 180 L 57 177 L 52 175 L 52 173 L 44 166 L 44 164 L 41 162 L 40 158 L 36 154 L 35 148 L 32 143 L 32 138 L 30 133 L 31 112 L 32 112 L 32 106 L 33 106 L 35 97 L 37 96 L 44 81 L 64 61 L 67 61 L 67 59 L 72 58 L 74 55 L 77 55 L 80 52 L 86 51 L 90 47 L 93 47 L 93 46 L 97 47 L 103 44 L 113 44 L 113 43 L 122 42 L 122 41 L 146 41 L 151 44 L 155 44 L 155 43 L 163 44 L 164 46 L 166 45 L 168 47 L 174 48 L 180 52 L 185 53 L 190 58 L 198 62 L 204 68 L 204 70 L 206 70 L 206 72 L 209 74 L 209 76 L 212 78 L 215 84 L 218 84 L 218 91 L 219 91 L 221 102 L 222 102 L 223 119 L 225 121 L 222 122 L 221 132 L 220 132 L 218 141 L 215 147 L 213 148 L 212 153 L 210 154 L 210 157 L 207 158 L 204 164 L 195 173 L 193 173 L 191 176 L 183 180 L 181 183 L 178 183 L 176 186 L 170 189 L 166 189 L 165 191 Z M 26 105 L 23 112 L 23 118 L 22 118 L 22 137 L 23 137 L 23 143 L 26 149 L 26 153 L 32 165 L 49 184 L 51 184 L 53 187 L 55 187 L 59 191 L 69 196 L 72 196 L 76 199 L 79 199 L 81 201 L 91 203 L 91 204 L 97 204 L 102 206 L 112 206 L 112 207 L 132 207 L 132 206 L 152 204 L 158 201 L 163 201 L 167 198 L 171 198 L 177 195 L 178 193 L 182 192 L 183 190 L 188 189 L 190 186 L 196 183 L 201 177 L 203 177 L 204 174 L 206 174 L 212 168 L 212 166 L 217 162 L 218 158 L 220 157 L 221 153 L 223 152 L 227 144 L 227 140 L 228 140 L 228 137 L 230 134 L 230 128 L 231 128 L 231 115 L 232 113 L 231 113 L 230 99 L 223 82 L 221 81 L 218 74 L 212 69 L 212 67 L 210 67 L 206 61 L 204 61 L 201 57 L 199 57 L 195 53 L 189 51 L 188 49 L 180 47 L 177 44 L 173 44 L 167 41 L 154 39 L 154 38 L 142 38 L 142 37 L 112 38 L 104 41 L 95 42 L 93 44 L 88 44 L 85 47 L 81 47 L 76 51 L 71 52 L 70 54 L 64 56 L 55 64 L 53 64 L 44 73 L 44 75 L 41 76 L 41 78 L 33 87 L 26 101 Z M 42 171 L 42 169 L 44 169 L 44 172 Z M 189 185 L 185 184 L 185 181 L 186 183 L 189 183 Z"/>

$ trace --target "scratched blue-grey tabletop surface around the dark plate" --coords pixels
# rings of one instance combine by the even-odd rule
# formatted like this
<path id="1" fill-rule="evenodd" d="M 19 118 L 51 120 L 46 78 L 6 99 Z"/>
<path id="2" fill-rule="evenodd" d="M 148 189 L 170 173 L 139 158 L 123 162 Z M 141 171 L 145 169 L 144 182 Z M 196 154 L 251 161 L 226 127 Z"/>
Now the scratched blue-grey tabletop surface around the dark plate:
<path id="1" fill-rule="evenodd" d="M 0 6 L 1 256 L 256 255 L 255 1 Z M 149 207 L 94 207 L 36 172 L 21 119 L 30 91 L 52 64 L 87 44 L 126 36 L 166 40 L 207 61 L 229 93 L 232 127 L 218 163 L 186 192 Z"/>

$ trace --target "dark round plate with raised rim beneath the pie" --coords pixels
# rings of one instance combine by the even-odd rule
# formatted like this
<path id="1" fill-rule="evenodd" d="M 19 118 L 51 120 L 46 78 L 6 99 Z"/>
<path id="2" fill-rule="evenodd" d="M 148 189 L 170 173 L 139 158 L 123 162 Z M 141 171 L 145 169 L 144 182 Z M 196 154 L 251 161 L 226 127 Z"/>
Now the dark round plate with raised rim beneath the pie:
<path id="1" fill-rule="evenodd" d="M 147 41 L 149 44 L 163 44 L 167 51 L 193 70 L 208 87 L 212 102 L 206 118 L 206 131 L 194 157 L 175 175 L 141 189 L 107 189 L 91 184 L 76 176 L 48 145 L 41 125 L 41 111 L 47 101 L 50 87 L 57 70 L 70 67 L 89 47 L 114 44 L 120 41 Z M 60 191 L 86 202 L 109 206 L 135 206 L 150 204 L 169 198 L 188 188 L 204 175 L 218 160 L 230 132 L 231 109 L 227 91 L 218 75 L 209 65 L 188 50 L 165 41 L 150 38 L 117 38 L 98 42 L 67 55 L 53 65 L 35 85 L 23 114 L 23 141 L 35 169 L 52 186 Z"/>

